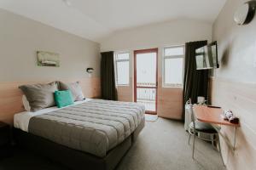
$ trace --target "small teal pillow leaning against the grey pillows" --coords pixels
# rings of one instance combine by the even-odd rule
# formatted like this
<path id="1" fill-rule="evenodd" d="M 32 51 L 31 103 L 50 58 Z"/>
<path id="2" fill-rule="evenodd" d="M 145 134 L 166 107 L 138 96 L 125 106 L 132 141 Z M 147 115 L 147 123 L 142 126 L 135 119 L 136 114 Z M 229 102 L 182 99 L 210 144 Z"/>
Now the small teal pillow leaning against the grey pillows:
<path id="1" fill-rule="evenodd" d="M 73 97 L 70 90 L 55 91 L 55 103 L 58 108 L 73 105 Z"/>

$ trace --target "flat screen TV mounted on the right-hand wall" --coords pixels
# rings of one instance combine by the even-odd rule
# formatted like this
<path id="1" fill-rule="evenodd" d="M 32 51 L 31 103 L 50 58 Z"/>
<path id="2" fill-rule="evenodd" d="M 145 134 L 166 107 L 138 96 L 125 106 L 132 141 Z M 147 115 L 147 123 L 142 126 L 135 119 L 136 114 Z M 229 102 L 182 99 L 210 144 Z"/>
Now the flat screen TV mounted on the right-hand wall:
<path id="1" fill-rule="evenodd" d="M 196 70 L 217 69 L 218 47 L 217 42 L 212 42 L 195 50 Z"/>

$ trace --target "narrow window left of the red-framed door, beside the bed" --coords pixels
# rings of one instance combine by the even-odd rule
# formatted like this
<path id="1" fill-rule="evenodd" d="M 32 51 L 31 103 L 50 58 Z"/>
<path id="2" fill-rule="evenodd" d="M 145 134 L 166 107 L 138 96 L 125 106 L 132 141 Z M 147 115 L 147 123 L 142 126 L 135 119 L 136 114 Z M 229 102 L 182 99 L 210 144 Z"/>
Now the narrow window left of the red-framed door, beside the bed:
<path id="1" fill-rule="evenodd" d="M 129 53 L 115 54 L 116 83 L 118 86 L 129 85 Z"/>

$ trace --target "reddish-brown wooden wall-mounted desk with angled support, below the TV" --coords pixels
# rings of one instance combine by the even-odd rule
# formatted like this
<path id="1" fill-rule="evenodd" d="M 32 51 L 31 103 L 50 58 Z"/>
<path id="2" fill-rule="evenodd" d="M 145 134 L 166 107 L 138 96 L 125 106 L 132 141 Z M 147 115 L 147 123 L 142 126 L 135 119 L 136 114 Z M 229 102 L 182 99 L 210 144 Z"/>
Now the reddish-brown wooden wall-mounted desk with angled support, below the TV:
<path id="1" fill-rule="evenodd" d="M 223 110 L 219 108 L 207 107 L 207 105 L 193 105 L 193 111 L 195 113 L 196 120 L 200 122 L 211 123 L 212 127 L 217 130 L 224 141 L 230 146 L 231 149 L 236 149 L 236 127 L 240 127 L 239 123 L 230 123 L 222 118 Z M 230 144 L 230 140 L 226 139 L 223 133 L 220 132 L 221 125 L 235 127 L 233 144 Z"/>

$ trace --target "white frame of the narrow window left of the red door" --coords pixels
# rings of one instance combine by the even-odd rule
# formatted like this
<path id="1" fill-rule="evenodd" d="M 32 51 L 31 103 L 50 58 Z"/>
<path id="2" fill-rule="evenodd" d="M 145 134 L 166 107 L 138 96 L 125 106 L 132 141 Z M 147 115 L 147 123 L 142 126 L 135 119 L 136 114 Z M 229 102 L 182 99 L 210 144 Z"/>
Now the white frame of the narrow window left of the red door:
<path id="1" fill-rule="evenodd" d="M 119 54 L 128 54 L 128 59 L 118 59 Z M 130 86 L 130 60 L 131 60 L 131 54 L 130 52 L 116 52 L 114 53 L 114 67 L 115 67 L 115 84 L 116 86 Z M 128 61 L 128 66 L 129 66 L 129 71 L 128 71 L 128 83 L 127 84 L 119 84 L 118 83 L 118 68 L 117 64 L 118 62 L 127 62 Z"/>

